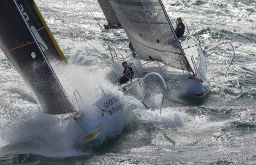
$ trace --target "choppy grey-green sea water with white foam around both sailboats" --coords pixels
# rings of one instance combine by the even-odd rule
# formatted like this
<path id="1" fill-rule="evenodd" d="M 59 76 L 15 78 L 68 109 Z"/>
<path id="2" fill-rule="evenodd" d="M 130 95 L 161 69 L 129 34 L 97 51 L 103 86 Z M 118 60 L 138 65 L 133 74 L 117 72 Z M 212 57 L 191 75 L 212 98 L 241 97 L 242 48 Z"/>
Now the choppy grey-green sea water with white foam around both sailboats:
<path id="1" fill-rule="evenodd" d="M 96 0 L 35 0 L 69 61 L 57 70 L 65 87 L 90 84 L 111 70 L 107 44 L 126 54 L 122 30 L 102 32 Z M 134 108 L 134 122 L 101 146 L 85 147 L 66 121 L 39 110 L 26 83 L 0 54 L 0 164 L 256 164 L 256 1 L 167 1 L 209 52 L 210 92 L 202 99 L 165 100 L 162 114 Z M 91 73 L 94 70 L 101 72 Z M 103 77 L 103 78 L 102 78 Z"/>

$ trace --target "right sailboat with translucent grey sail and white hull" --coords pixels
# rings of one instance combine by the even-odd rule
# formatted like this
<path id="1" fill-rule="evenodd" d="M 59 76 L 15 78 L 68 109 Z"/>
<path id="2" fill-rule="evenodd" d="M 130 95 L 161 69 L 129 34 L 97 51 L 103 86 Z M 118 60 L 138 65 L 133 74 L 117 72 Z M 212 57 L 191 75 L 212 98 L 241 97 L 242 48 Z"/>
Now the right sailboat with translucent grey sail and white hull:
<path id="1" fill-rule="evenodd" d="M 182 96 L 199 98 L 207 94 L 205 57 L 210 49 L 203 49 L 199 37 L 184 35 L 178 38 L 161 0 L 107 1 L 130 40 L 130 61 L 142 75 L 160 73 L 169 94 L 178 92 Z M 139 58 L 134 58 L 134 54 Z"/>

